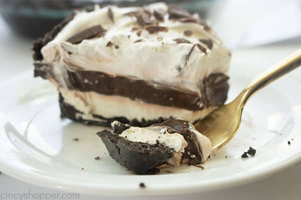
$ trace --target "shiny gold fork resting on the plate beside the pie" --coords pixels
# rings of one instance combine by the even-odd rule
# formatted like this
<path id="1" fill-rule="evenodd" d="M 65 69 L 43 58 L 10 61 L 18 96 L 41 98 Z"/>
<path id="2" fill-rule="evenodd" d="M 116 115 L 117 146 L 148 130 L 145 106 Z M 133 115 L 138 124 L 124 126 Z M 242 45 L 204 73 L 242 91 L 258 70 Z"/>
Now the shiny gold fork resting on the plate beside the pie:
<path id="1" fill-rule="evenodd" d="M 255 78 L 232 102 L 220 106 L 204 119 L 197 121 L 196 129 L 211 140 L 213 150 L 220 149 L 236 134 L 243 107 L 249 98 L 264 86 L 300 65 L 301 48 Z"/>

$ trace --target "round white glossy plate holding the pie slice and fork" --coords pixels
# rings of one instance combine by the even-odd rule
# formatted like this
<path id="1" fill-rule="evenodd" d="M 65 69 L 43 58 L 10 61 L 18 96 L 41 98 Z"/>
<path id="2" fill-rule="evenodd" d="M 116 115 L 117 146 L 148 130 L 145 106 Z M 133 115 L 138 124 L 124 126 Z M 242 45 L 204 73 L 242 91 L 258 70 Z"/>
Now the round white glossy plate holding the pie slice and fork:
<path id="1" fill-rule="evenodd" d="M 246 56 L 233 59 L 229 99 L 263 70 L 256 61 L 246 63 Z M 301 82 L 293 75 L 251 99 L 237 135 L 211 155 L 204 170 L 184 165 L 135 175 L 109 157 L 96 135 L 101 127 L 60 119 L 55 89 L 26 72 L 0 84 L 0 170 L 40 186 L 101 195 L 199 192 L 254 181 L 300 160 Z M 257 149 L 256 155 L 242 159 L 249 146 Z M 146 188 L 139 188 L 140 182 Z"/>

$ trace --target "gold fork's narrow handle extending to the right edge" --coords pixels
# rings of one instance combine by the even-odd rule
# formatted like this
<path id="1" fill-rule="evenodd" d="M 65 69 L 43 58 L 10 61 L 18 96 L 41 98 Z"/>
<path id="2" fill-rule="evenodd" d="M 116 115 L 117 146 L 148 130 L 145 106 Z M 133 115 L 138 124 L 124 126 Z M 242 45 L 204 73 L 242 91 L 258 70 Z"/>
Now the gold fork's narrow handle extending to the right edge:
<path id="1" fill-rule="evenodd" d="M 292 71 L 301 65 L 301 48 L 284 58 L 279 63 L 267 69 L 265 72 L 257 76 L 251 83 L 240 93 L 243 95 L 243 105 L 261 88 L 269 83 Z"/>

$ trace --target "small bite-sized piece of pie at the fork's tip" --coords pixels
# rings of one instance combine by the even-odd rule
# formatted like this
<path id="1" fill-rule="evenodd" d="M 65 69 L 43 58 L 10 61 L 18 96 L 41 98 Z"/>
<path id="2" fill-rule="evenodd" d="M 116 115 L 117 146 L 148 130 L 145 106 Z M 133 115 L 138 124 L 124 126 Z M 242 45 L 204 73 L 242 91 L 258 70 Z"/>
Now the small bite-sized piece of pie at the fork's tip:
<path id="1" fill-rule="evenodd" d="M 169 119 L 148 127 L 113 121 L 111 127 L 97 134 L 110 156 L 137 174 L 159 172 L 166 164 L 180 166 L 184 160 L 197 165 L 211 152 L 210 140 L 188 121 Z"/>

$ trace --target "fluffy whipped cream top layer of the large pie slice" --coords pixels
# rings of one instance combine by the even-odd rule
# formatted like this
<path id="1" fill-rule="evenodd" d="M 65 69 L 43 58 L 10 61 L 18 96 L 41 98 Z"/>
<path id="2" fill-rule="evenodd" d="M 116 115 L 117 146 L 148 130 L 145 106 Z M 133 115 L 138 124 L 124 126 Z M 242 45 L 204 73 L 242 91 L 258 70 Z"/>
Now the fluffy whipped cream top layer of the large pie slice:
<path id="1" fill-rule="evenodd" d="M 109 8 L 114 21 L 108 15 Z M 156 9 L 168 10 L 165 3 L 150 4 L 146 8 L 152 12 Z M 214 31 L 208 31 L 198 23 L 169 19 L 167 13 L 165 20 L 159 22 L 160 26 L 168 27 L 167 32 L 151 34 L 141 28 L 140 34 L 137 34 L 139 30 L 133 31 L 133 27 L 139 28 L 136 17 L 126 14 L 137 9 L 95 6 L 91 12 L 78 11 L 61 32 L 42 48 L 44 61 L 54 67 L 61 85 L 67 87 L 66 69 L 79 69 L 143 79 L 155 86 L 167 85 L 200 93 L 199 81 L 204 77 L 215 72 L 227 73 L 230 53 Z M 98 24 L 106 29 L 104 36 L 84 39 L 78 44 L 66 41 L 79 31 Z M 192 31 L 192 35 L 184 34 L 187 30 Z M 191 43 L 177 43 L 176 38 L 185 38 Z M 212 49 L 199 39 L 211 39 Z M 109 42 L 112 45 L 107 45 Z M 205 47 L 206 53 L 197 47 L 191 51 L 196 43 Z"/>

